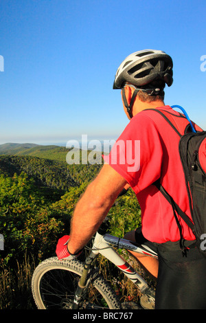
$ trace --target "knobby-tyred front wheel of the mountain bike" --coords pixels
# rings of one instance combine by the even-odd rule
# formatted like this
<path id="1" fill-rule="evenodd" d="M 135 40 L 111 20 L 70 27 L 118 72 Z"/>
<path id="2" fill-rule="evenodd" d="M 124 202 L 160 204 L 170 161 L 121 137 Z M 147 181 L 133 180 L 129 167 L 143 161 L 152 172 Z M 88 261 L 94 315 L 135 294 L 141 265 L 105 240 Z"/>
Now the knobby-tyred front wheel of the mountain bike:
<path id="1" fill-rule="evenodd" d="M 38 309 L 71 309 L 74 291 L 83 270 L 79 260 L 44 260 L 32 275 L 32 294 Z M 112 287 L 97 274 L 89 284 L 80 309 L 121 309 Z"/>

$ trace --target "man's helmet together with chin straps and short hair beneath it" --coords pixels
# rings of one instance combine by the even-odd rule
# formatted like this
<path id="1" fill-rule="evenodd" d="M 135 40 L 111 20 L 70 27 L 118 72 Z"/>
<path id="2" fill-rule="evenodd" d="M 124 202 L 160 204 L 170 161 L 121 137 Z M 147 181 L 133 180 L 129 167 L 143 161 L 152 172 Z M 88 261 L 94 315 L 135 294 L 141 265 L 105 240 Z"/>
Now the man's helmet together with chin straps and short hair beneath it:
<path id="1" fill-rule="evenodd" d="M 163 100 L 165 84 L 170 87 L 172 78 L 172 58 L 160 50 L 145 49 L 125 58 L 115 75 L 113 89 L 122 89 L 122 99 L 130 118 L 136 97 L 141 102 Z M 133 87 L 133 96 L 128 102 L 126 89 Z"/>

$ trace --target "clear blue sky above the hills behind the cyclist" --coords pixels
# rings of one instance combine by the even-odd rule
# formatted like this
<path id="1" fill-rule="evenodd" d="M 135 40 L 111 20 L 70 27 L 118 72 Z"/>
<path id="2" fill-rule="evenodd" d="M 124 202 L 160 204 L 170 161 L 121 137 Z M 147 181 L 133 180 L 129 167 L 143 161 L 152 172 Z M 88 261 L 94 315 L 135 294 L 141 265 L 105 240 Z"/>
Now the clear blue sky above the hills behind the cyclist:
<path id="1" fill-rule="evenodd" d="M 205 0 L 1 0 L 0 144 L 117 138 L 115 72 L 141 49 L 172 56 L 165 104 L 206 129 L 205 12 Z"/>

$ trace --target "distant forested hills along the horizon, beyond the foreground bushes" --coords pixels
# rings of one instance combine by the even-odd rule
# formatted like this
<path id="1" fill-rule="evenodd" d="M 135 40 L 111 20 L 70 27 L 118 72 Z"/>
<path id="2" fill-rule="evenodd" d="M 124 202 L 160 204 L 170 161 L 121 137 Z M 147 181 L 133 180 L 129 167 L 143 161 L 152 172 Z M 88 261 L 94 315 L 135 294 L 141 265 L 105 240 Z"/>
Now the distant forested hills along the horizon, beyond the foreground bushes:
<path id="1" fill-rule="evenodd" d="M 99 164 L 67 164 L 68 148 L 35 144 L 0 145 L 0 173 L 13 176 L 25 172 L 38 186 L 66 192 L 70 187 L 91 181 Z M 80 151 L 81 154 L 81 151 Z"/>

